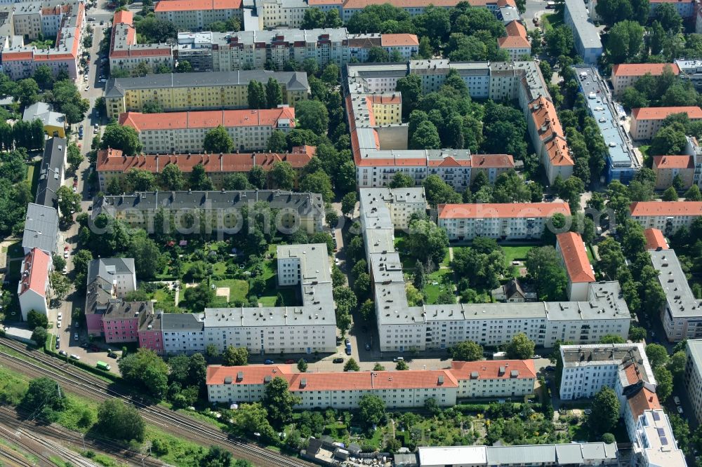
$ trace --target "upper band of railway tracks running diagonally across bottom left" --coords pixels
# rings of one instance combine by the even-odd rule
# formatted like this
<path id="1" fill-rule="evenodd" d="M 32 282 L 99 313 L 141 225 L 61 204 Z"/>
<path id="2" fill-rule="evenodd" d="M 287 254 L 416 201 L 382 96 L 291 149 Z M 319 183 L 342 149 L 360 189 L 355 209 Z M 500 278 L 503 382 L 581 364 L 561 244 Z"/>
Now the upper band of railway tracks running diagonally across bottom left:
<path id="1" fill-rule="evenodd" d="M 39 351 L 27 351 L 25 346 L 10 339 L 0 338 L 0 344 L 4 344 L 14 352 L 35 360 L 37 363 L 42 363 L 51 367 L 50 370 L 43 365 L 27 362 L 25 358 L 20 358 L 13 355 L 13 353 L 8 353 L 0 347 L 0 358 L 13 361 L 14 363 L 21 363 L 23 371 L 41 376 L 53 377 L 58 382 L 64 384 L 67 389 L 70 388 L 72 392 L 87 395 L 93 399 L 104 400 L 105 398 L 119 398 L 124 400 L 134 405 L 141 412 L 145 420 L 181 438 L 197 442 L 204 446 L 219 445 L 220 447 L 230 450 L 234 456 L 247 459 L 254 465 L 260 467 L 314 466 L 313 463 L 307 461 L 284 456 L 270 449 L 232 439 L 217 428 L 183 414 L 178 414 L 157 405 L 144 404 L 140 400 L 132 398 L 131 395 L 121 392 L 119 387 L 110 387 L 105 384 L 105 381 L 102 381 L 102 379 L 83 372 L 58 358 L 48 356 Z"/>

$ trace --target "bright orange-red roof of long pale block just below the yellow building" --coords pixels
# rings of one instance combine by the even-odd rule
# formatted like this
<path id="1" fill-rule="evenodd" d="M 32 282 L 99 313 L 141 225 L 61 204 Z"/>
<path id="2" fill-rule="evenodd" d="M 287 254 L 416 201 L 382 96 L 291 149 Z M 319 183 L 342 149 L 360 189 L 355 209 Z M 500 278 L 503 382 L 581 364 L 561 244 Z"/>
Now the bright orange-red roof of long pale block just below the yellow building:
<path id="1" fill-rule="evenodd" d="M 119 116 L 119 124 L 131 126 L 137 132 L 144 130 L 183 130 L 186 128 L 225 128 L 234 126 L 272 126 L 277 127 L 279 119 L 289 119 L 295 126 L 295 109 L 262 110 L 205 110 L 190 112 L 164 112 L 161 114 L 142 114 L 125 112 Z"/>

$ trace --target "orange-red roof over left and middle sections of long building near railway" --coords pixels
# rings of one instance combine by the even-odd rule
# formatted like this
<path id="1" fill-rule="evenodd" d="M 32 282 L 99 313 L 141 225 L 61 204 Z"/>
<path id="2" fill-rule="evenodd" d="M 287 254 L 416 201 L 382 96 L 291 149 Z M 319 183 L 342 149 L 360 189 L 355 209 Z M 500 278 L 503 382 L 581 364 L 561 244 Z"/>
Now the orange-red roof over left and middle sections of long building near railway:
<path id="1" fill-rule="evenodd" d="M 237 374 L 243 378 L 237 381 Z M 290 365 L 246 365 L 243 367 L 207 367 L 206 384 L 263 384 L 266 377 L 282 377 L 291 391 L 349 391 L 402 388 L 458 388 L 458 381 L 449 370 L 406 370 L 385 372 L 319 372 L 293 373 Z M 443 382 L 439 384 L 439 379 Z M 303 384 L 303 380 L 305 384 Z M 227 383 L 228 384 L 228 383 Z"/>

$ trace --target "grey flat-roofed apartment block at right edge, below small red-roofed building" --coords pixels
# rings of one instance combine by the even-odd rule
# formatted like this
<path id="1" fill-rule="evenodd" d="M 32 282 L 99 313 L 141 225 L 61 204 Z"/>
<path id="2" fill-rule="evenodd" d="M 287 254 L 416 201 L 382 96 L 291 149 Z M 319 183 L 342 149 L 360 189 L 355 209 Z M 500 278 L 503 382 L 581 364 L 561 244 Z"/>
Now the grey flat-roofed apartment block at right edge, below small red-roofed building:
<path id="1" fill-rule="evenodd" d="M 694 296 L 675 250 L 648 250 L 658 283 L 665 292 L 661 323 L 670 342 L 702 338 L 702 302 Z"/>

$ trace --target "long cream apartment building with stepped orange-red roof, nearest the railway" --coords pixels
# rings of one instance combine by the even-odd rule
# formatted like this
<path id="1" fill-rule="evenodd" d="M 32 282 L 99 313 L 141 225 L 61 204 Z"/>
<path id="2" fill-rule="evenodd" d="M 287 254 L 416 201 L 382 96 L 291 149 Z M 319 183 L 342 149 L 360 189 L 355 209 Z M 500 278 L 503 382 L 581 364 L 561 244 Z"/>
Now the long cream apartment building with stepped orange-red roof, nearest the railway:
<path id="1" fill-rule="evenodd" d="M 291 365 L 207 367 L 210 402 L 258 402 L 274 377 L 288 381 L 300 397 L 300 409 L 355 409 L 366 394 L 377 395 L 388 408 L 423 407 L 433 398 L 442 407 L 461 398 L 524 397 L 534 391 L 536 371 L 531 360 L 453 362 L 449 370 L 404 372 L 291 372 Z M 336 381 L 336 382 L 333 382 Z"/>

